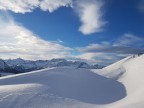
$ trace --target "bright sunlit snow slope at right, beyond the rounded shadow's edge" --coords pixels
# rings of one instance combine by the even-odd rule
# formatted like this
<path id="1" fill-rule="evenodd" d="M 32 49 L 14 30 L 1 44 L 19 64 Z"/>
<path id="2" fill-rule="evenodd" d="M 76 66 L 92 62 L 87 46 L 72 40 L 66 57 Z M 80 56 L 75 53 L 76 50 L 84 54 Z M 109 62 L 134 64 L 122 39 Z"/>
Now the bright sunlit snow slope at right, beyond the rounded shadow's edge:
<path id="1" fill-rule="evenodd" d="M 126 88 L 127 96 L 108 108 L 144 108 L 144 55 L 127 57 L 95 73 L 116 79 Z"/>

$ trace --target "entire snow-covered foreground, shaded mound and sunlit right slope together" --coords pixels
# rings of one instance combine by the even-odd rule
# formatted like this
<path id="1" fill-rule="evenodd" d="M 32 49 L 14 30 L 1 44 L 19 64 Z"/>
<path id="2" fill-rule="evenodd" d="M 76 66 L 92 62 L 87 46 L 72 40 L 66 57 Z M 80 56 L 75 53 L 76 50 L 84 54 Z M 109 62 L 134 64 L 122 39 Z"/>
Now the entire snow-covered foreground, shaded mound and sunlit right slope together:
<path id="1" fill-rule="evenodd" d="M 102 70 L 43 69 L 0 78 L 0 108 L 143 108 L 143 84 L 143 55 Z"/>

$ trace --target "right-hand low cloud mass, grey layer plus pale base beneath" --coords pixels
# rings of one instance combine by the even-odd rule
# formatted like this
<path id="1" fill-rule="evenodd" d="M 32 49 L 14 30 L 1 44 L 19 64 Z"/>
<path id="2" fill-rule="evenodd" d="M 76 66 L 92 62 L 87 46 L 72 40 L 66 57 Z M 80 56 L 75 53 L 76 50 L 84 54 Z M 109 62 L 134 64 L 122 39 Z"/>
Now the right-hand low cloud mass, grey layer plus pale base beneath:
<path id="1" fill-rule="evenodd" d="M 144 39 L 133 34 L 124 34 L 114 42 L 101 42 L 78 48 L 81 59 L 92 63 L 110 64 L 132 54 L 144 53 Z"/>

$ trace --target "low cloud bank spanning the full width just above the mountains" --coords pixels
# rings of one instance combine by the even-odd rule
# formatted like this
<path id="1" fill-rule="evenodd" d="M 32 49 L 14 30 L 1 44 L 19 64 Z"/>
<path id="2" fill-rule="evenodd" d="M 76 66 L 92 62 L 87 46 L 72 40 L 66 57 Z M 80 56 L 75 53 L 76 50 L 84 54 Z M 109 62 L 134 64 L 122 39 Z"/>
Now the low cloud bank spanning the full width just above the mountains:
<path id="1" fill-rule="evenodd" d="M 70 48 L 62 40 L 46 41 L 16 22 L 9 14 L 0 16 L 0 56 L 2 58 L 52 59 L 66 58 L 89 63 L 113 63 L 129 54 L 144 52 L 143 38 L 127 33 L 109 42 Z M 133 44 L 137 43 L 137 47 Z M 76 52 L 73 53 L 73 52 Z M 105 62 L 106 63 L 106 62 Z"/>

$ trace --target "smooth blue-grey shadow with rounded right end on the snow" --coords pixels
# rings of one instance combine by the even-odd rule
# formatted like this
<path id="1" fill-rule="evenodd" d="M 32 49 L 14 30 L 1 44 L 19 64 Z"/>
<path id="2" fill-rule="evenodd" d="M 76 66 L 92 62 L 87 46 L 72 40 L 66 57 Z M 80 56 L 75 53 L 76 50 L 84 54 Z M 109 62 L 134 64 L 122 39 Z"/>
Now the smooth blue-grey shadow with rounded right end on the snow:
<path id="1" fill-rule="evenodd" d="M 9 80 L 9 79 L 8 79 Z M 12 81 L 13 80 L 13 81 Z M 48 86 L 56 96 L 71 98 L 91 104 L 109 104 L 126 96 L 123 84 L 84 69 L 52 69 L 0 80 L 0 84 L 39 83 Z"/>

